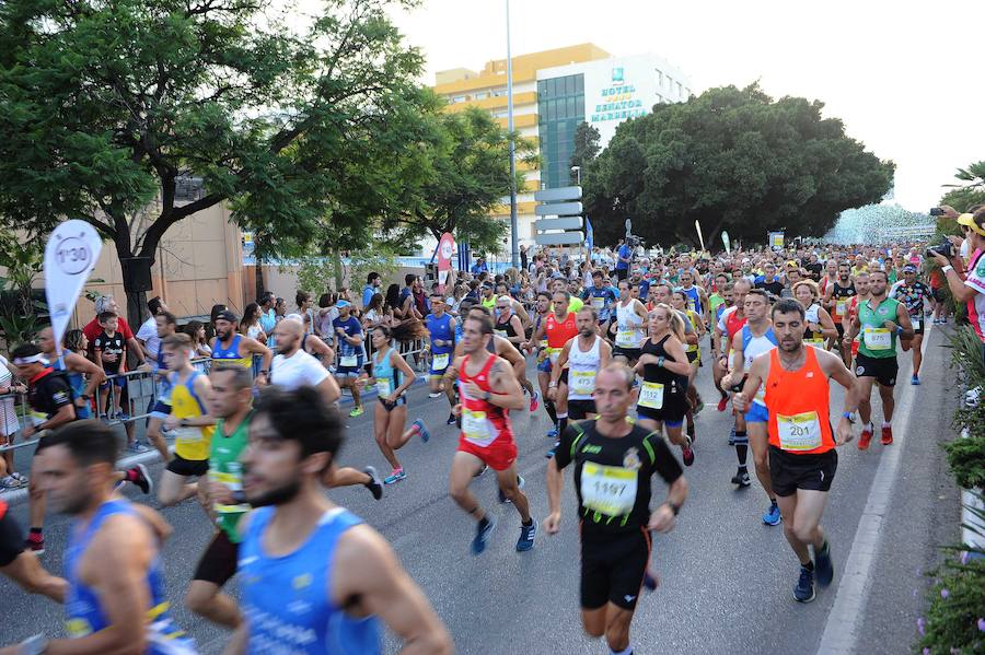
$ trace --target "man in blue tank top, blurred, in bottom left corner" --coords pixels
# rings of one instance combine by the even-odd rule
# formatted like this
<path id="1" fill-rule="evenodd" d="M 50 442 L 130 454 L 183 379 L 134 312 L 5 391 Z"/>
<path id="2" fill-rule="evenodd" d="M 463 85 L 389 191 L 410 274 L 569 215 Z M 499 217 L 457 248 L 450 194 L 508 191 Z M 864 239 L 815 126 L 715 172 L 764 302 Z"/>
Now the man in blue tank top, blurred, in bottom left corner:
<path id="1" fill-rule="evenodd" d="M 158 536 L 166 525 L 150 508 L 113 498 L 113 431 L 76 421 L 43 438 L 38 451 L 50 502 L 74 517 L 65 553 L 69 640 L 26 652 L 63 650 L 71 641 L 80 653 L 135 652 L 136 645 L 148 655 L 196 653 L 165 600 Z"/>

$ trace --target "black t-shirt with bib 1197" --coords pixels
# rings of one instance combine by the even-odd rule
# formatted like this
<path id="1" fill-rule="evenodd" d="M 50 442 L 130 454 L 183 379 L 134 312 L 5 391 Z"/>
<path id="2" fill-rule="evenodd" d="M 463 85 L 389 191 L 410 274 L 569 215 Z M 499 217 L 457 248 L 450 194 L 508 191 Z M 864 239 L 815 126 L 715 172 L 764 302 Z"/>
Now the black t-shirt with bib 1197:
<path id="1" fill-rule="evenodd" d="M 575 463 L 582 535 L 639 530 L 650 521 L 650 477 L 671 484 L 683 473 L 660 433 L 639 425 L 622 438 L 602 435 L 595 421 L 570 425 L 554 460 L 559 469 Z"/>

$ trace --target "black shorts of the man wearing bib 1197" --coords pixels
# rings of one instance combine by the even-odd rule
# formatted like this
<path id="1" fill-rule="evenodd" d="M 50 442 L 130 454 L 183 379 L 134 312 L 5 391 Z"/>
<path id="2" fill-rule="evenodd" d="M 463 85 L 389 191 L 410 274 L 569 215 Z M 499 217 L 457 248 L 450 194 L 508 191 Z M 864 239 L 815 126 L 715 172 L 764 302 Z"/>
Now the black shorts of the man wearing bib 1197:
<path id="1" fill-rule="evenodd" d="M 581 530 L 581 607 L 599 609 L 612 603 L 633 610 L 650 563 L 650 536 L 642 528 L 627 533 Z"/>

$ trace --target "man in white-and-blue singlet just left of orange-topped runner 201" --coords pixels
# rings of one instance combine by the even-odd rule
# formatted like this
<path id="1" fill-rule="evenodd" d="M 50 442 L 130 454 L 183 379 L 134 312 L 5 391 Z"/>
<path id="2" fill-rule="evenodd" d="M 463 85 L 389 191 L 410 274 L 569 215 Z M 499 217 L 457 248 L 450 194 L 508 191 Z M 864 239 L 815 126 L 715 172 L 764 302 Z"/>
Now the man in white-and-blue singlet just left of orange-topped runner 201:
<path id="1" fill-rule="evenodd" d="M 764 352 L 769 352 L 776 348 L 776 335 L 773 332 L 773 323 L 769 320 L 769 297 L 763 289 L 751 289 L 745 295 L 745 326 L 735 335 L 732 342 L 732 370 L 726 375 L 721 384 L 725 387 L 739 387 L 744 383 L 746 371 L 752 365 L 753 359 Z M 738 410 L 738 407 L 735 408 Z M 767 422 L 769 414 L 766 411 L 765 391 L 761 390 L 753 398 L 752 405 L 744 410 L 745 429 L 749 433 L 749 445 L 753 449 L 753 463 L 756 467 L 756 478 L 763 486 L 766 495 L 769 496 L 769 507 L 763 514 L 763 523 L 766 525 L 779 525 L 781 519 L 779 507 L 776 504 L 776 496 L 773 493 L 773 487 L 769 483 L 769 461 L 768 455 L 768 435 Z M 739 455 L 739 471 L 733 483 L 745 487 L 742 477 L 748 472 L 745 448 L 738 437 L 737 430 L 737 453 Z M 737 481 L 738 478 L 738 481 Z"/>

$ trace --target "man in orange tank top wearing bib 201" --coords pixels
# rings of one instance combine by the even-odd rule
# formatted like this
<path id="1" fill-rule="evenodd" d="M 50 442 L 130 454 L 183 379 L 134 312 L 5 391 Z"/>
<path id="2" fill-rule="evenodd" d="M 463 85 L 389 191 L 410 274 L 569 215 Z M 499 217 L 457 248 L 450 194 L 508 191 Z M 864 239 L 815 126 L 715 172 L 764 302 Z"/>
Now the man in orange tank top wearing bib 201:
<path id="1" fill-rule="evenodd" d="M 756 356 L 737 401 L 737 409 L 766 386 L 769 413 L 769 479 L 784 517 L 784 534 L 800 560 L 793 587 L 799 603 L 814 599 L 814 576 L 826 587 L 834 577 L 831 547 L 821 528 L 827 491 L 838 466 L 835 451 L 854 437 L 854 412 L 861 398 L 858 379 L 836 354 L 804 347 L 803 307 L 785 299 L 773 306 L 777 348 Z M 841 384 L 845 407 L 837 429 L 828 418 L 828 378 Z M 810 548 L 813 548 L 813 559 Z"/>

